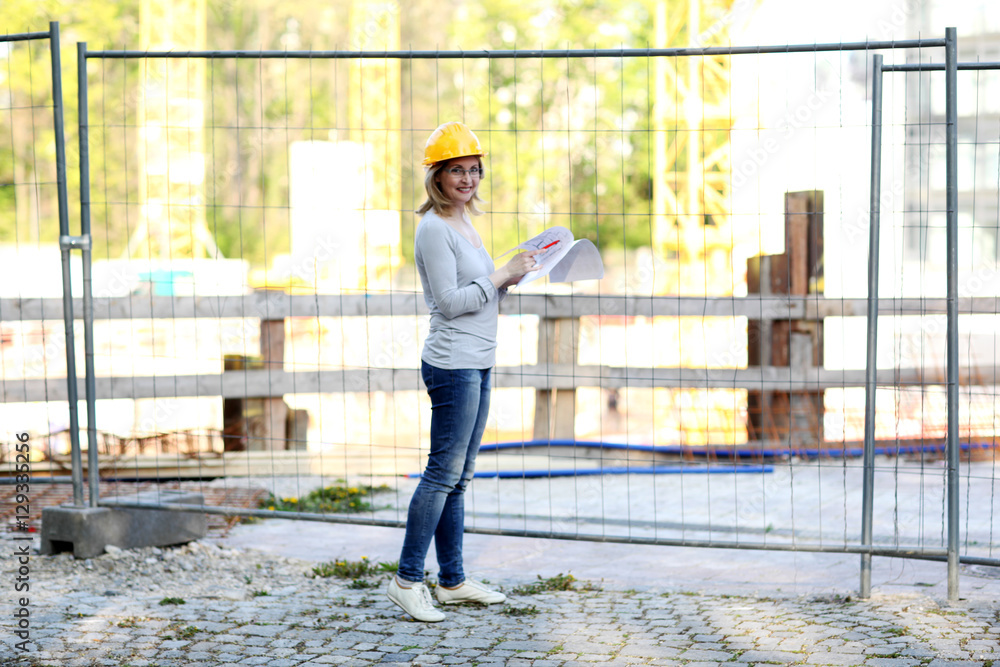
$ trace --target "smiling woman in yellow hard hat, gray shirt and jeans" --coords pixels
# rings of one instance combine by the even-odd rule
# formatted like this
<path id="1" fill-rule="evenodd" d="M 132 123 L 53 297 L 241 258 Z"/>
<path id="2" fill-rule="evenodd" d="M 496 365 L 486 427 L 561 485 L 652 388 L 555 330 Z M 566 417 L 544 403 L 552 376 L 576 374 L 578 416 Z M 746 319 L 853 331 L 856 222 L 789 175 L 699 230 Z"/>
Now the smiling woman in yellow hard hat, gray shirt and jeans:
<path id="1" fill-rule="evenodd" d="M 431 450 L 410 500 L 399 571 L 387 595 L 419 621 L 444 620 L 423 583 L 424 559 L 434 538 L 436 595 L 442 604 L 494 604 L 502 593 L 465 576 L 462 534 L 464 493 L 475 469 L 490 403 L 490 369 L 495 362 L 497 314 L 507 288 L 535 265 L 531 250 L 501 269 L 483 247 L 470 216 L 476 207 L 486 155 L 462 123 L 445 123 L 424 150 L 427 201 L 414 239 L 414 255 L 430 333 L 421 354 L 421 375 L 431 398 Z"/>

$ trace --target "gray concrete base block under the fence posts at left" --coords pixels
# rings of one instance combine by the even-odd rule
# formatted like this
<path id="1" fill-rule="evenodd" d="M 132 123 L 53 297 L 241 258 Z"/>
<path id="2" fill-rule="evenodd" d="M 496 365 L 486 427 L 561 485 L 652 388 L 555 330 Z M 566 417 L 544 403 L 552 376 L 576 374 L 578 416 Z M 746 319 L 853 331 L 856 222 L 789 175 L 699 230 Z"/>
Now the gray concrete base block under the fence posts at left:
<path id="1" fill-rule="evenodd" d="M 122 501 L 200 506 L 204 497 L 185 491 L 152 491 Z M 42 510 L 41 553 L 72 551 L 77 558 L 94 558 L 103 554 L 108 545 L 121 549 L 164 547 L 201 539 L 207 532 L 208 521 L 202 512 L 114 506 L 47 507 Z"/>

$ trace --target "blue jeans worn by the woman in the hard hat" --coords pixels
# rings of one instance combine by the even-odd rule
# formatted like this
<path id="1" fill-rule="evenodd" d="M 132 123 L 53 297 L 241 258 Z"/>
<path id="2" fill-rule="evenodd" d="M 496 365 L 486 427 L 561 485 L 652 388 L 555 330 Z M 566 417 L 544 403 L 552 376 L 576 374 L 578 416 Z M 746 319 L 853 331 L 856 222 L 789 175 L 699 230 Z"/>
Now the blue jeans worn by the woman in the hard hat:
<path id="1" fill-rule="evenodd" d="M 472 481 L 486 430 L 490 369 L 446 370 L 421 362 L 420 372 L 431 397 L 431 451 L 410 499 L 399 576 L 407 581 L 424 580 L 424 559 L 433 537 L 438 583 L 454 587 L 465 581 L 465 488 Z"/>

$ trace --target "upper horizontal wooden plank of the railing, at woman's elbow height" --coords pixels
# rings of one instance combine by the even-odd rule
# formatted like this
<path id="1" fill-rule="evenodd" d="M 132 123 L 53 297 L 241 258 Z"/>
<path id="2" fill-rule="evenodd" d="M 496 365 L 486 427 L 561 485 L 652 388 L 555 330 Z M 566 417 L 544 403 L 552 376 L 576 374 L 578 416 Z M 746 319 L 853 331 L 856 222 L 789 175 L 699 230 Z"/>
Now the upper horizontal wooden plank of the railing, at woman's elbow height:
<path id="1" fill-rule="evenodd" d="M 501 304 L 502 315 L 583 317 L 752 317 L 758 320 L 820 320 L 827 317 L 865 317 L 863 298 L 796 297 L 789 295 L 746 297 L 598 296 L 513 294 Z M 936 317 L 947 311 L 947 301 L 934 299 L 880 299 L 879 314 L 903 317 Z M 964 297 L 961 314 L 995 315 L 1000 297 Z M 73 316 L 82 319 L 83 301 L 74 299 Z M 193 319 L 282 317 L 402 317 L 427 315 L 417 294 L 393 295 L 252 295 L 234 297 L 116 297 L 94 299 L 94 319 Z M 62 322 L 62 299 L 0 299 L 0 321 Z M 943 326 L 943 325 L 942 325 Z M 943 330 L 943 329 L 942 329 Z"/>

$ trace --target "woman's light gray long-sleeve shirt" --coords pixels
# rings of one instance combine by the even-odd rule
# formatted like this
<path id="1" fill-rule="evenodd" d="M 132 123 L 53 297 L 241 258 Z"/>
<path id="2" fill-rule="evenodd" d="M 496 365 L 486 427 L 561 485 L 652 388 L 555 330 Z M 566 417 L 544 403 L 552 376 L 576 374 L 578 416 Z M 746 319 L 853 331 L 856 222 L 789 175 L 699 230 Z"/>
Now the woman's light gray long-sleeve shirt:
<path id="1" fill-rule="evenodd" d="M 496 363 L 497 316 L 506 290 L 489 279 L 493 260 L 428 211 L 417 226 L 413 254 L 431 311 L 421 358 L 446 369 L 492 368 Z"/>

